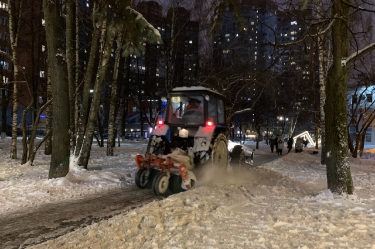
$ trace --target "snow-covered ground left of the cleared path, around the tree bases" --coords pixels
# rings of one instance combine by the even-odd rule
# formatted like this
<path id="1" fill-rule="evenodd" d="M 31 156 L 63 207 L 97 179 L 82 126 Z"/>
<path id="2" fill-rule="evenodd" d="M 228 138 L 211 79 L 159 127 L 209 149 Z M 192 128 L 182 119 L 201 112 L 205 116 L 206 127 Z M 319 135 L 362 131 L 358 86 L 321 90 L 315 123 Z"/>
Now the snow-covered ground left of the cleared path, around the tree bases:
<path id="1" fill-rule="evenodd" d="M 10 142 L 6 141 L 6 144 Z M 146 144 L 122 144 L 114 148 L 115 156 L 105 156 L 106 148 L 94 146 L 88 170 L 69 172 L 62 178 L 48 180 L 50 156 L 38 151 L 34 166 L 11 160 L 9 153 L 0 155 L 0 212 L 36 207 L 43 203 L 82 198 L 134 183 L 134 157 L 145 153 Z M 18 156 L 22 154 L 18 150 Z"/>

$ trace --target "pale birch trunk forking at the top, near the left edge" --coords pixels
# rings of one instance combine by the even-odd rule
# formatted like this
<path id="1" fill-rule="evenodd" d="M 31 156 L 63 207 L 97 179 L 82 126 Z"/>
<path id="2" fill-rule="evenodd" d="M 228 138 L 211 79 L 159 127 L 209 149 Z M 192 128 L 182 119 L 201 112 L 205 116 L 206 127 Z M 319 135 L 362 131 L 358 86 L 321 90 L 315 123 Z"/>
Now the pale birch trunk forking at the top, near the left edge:
<path id="1" fill-rule="evenodd" d="M 8 0 L 8 14 L 9 14 L 9 36 L 10 36 L 10 47 L 12 48 L 12 61 L 13 61 L 13 117 L 12 117 L 12 144 L 10 148 L 10 159 L 17 158 L 17 122 L 18 122 L 18 86 L 17 81 L 19 80 L 19 66 L 17 58 L 17 47 L 18 47 L 18 34 L 20 33 L 20 17 L 22 12 L 23 0 L 20 0 L 18 6 L 17 20 L 15 20 L 15 10 L 13 10 L 13 1 Z M 16 25 L 16 22 L 17 25 Z M 17 28 L 16 28 L 17 27 Z"/>

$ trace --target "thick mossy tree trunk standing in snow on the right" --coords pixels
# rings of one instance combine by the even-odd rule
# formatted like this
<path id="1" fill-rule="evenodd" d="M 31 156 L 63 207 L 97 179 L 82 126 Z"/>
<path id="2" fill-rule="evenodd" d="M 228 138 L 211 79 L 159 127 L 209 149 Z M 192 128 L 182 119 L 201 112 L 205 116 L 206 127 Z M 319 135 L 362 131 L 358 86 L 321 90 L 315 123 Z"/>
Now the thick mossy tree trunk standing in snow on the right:
<path id="1" fill-rule="evenodd" d="M 347 134 L 348 68 L 341 60 L 348 53 L 349 7 L 340 0 L 332 1 L 332 16 L 338 15 L 332 26 L 333 66 L 327 75 L 326 148 L 327 184 L 333 193 L 353 194 Z"/>

